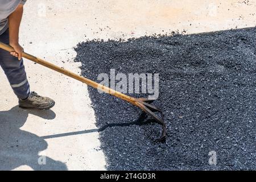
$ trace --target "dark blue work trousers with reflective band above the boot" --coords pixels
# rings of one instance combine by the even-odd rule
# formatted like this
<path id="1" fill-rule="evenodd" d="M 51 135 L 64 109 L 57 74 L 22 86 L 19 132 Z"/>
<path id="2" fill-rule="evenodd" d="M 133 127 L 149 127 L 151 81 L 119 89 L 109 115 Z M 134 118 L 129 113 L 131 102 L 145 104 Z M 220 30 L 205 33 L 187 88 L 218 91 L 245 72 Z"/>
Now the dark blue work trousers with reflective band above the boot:
<path id="1" fill-rule="evenodd" d="M 0 42 L 9 44 L 9 30 L 0 35 Z M 16 96 L 20 99 L 27 98 L 30 94 L 30 85 L 27 81 L 23 60 L 19 61 L 17 57 L 0 48 L 0 65 Z"/>

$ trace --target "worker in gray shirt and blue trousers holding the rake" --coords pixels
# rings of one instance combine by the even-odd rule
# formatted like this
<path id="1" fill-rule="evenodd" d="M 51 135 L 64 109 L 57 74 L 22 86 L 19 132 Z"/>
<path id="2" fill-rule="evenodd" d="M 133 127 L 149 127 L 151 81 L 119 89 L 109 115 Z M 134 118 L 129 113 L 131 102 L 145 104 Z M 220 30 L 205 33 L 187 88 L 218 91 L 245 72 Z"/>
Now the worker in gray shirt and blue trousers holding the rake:
<path id="1" fill-rule="evenodd" d="M 9 44 L 14 51 L 0 49 L 0 65 L 7 76 L 11 88 L 18 97 L 19 107 L 47 110 L 55 105 L 48 97 L 30 92 L 23 65 L 23 48 L 19 44 L 19 26 L 22 20 L 23 5 L 27 0 L 0 1 L 0 42 Z"/>

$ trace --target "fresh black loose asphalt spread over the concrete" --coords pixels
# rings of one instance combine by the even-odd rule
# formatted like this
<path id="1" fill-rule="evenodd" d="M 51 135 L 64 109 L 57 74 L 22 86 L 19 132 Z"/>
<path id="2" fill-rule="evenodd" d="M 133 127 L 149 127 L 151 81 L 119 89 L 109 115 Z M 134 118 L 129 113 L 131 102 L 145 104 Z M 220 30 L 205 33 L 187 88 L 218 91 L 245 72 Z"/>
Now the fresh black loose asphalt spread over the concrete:
<path id="1" fill-rule="evenodd" d="M 76 61 L 94 81 L 110 69 L 159 73 L 153 104 L 163 110 L 165 143 L 154 142 L 161 127 L 140 109 L 89 87 L 107 169 L 256 169 L 255 37 L 247 28 L 80 43 Z"/>

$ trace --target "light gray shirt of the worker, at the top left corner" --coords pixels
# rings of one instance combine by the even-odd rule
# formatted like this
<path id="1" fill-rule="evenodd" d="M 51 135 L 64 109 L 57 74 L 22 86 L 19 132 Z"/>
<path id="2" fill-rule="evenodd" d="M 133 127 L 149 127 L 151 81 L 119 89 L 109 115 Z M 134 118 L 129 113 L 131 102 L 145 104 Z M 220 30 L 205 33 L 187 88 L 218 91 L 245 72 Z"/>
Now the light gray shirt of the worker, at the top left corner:
<path id="1" fill-rule="evenodd" d="M 8 28 L 8 16 L 19 4 L 24 5 L 27 0 L 0 0 L 0 35 Z"/>

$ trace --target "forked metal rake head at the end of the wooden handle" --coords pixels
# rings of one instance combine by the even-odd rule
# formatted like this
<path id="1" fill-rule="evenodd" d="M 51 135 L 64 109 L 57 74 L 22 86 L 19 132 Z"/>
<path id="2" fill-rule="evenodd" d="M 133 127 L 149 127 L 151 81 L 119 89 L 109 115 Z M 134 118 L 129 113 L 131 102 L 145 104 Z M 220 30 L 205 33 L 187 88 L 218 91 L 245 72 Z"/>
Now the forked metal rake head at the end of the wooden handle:
<path id="1" fill-rule="evenodd" d="M 156 122 L 162 125 L 162 136 L 157 139 L 156 142 L 163 142 L 166 139 L 166 123 L 163 121 L 162 110 L 154 105 L 149 104 L 154 100 L 150 100 L 148 98 L 137 98 L 136 101 L 136 104 L 139 108 L 141 108 L 145 113 L 154 118 Z M 156 115 L 154 112 L 159 112 L 161 114 L 161 118 L 159 118 L 158 115 Z"/>

